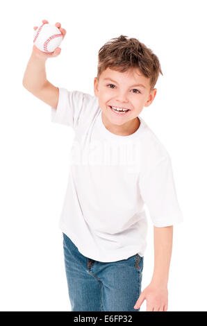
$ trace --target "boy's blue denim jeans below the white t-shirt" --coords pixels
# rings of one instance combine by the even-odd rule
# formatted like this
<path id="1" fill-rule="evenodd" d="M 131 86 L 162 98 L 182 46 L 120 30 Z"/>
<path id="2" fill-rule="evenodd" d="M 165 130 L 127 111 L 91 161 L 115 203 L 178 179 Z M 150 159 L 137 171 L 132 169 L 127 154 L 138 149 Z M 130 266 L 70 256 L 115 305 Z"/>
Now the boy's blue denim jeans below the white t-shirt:
<path id="1" fill-rule="evenodd" d="M 139 311 L 143 257 L 101 262 L 85 257 L 63 233 L 65 272 L 72 311 Z"/>

